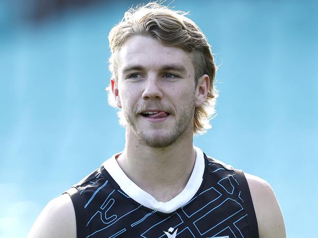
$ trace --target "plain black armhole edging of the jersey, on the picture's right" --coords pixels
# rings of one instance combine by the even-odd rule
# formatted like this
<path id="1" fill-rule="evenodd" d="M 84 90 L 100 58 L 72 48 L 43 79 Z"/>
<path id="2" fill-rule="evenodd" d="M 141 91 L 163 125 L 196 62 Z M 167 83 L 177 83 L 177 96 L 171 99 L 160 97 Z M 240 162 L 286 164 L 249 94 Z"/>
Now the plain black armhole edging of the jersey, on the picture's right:
<path id="1" fill-rule="evenodd" d="M 244 201 L 244 205 L 245 205 L 244 208 L 249 214 L 248 219 L 250 221 L 249 224 L 250 224 L 251 238 L 259 238 L 257 218 L 256 218 L 254 206 L 253 206 L 253 201 L 250 196 L 250 187 L 249 187 L 248 181 L 242 170 L 234 169 L 234 171 L 236 175 L 235 178 L 237 179 L 242 191 L 241 198 Z"/>

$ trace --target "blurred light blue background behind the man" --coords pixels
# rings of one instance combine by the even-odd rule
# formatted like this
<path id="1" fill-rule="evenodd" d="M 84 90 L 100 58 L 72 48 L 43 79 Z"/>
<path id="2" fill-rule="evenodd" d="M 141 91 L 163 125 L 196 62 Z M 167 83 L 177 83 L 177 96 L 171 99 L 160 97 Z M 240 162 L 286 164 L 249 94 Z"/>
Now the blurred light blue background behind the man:
<path id="1" fill-rule="evenodd" d="M 107 104 L 108 32 L 140 1 L 0 1 L 0 237 L 123 149 Z M 266 179 L 289 238 L 317 227 L 318 2 L 176 0 L 216 54 L 207 154 Z"/>

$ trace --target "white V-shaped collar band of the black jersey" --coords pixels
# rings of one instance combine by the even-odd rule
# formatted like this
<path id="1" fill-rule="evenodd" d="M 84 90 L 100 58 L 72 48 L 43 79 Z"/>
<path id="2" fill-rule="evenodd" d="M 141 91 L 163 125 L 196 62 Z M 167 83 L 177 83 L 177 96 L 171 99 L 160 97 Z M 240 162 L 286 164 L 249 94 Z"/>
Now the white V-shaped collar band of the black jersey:
<path id="1" fill-rule="evenodd" d="M 167 202 L 157 201 L 156 198 L 139 188 L 126 176 L 115 159 L 115 156 L 120 153 L 117 153 L 112 158 L 107 159 L 103 163 L 103 166 L 130 198 L 150 209 L 163 213 L 172 213 L 190 201 L 202 184 L 204 174 L 204 155 L 202 150 L 198 147 L 194 146 L 194 149 L 196 151 L 196 160 L 187 184 L 180 194 Z"/>

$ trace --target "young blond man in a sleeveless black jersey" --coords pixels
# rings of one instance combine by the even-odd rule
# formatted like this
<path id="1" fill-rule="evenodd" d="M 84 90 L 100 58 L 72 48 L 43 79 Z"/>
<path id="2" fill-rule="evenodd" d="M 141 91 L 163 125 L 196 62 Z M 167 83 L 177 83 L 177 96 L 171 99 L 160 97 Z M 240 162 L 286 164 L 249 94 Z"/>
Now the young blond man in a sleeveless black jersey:
<path id="1" fill-rule="evenodd" d="M 126 127 L 122 152 L 53 199 L 29 238 L 285 238 L 270 185 L 207 157 L 216 67 L 182 12 L 149 3 L 109 35 L 110 101 Z"/>

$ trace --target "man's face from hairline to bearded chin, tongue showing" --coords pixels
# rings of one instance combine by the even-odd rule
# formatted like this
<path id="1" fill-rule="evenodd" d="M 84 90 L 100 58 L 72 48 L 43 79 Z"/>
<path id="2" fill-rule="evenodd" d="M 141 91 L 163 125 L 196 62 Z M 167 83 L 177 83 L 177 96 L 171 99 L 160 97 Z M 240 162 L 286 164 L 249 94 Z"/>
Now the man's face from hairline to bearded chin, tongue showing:
<path id="1" fill-rule="evenodd" d="M 185 51 L 134 36 L 121 47 L 117 70 L 117 106 L 142 144 L 165 147 L 184 132 L 192 137 L 194 67 Z"/>

